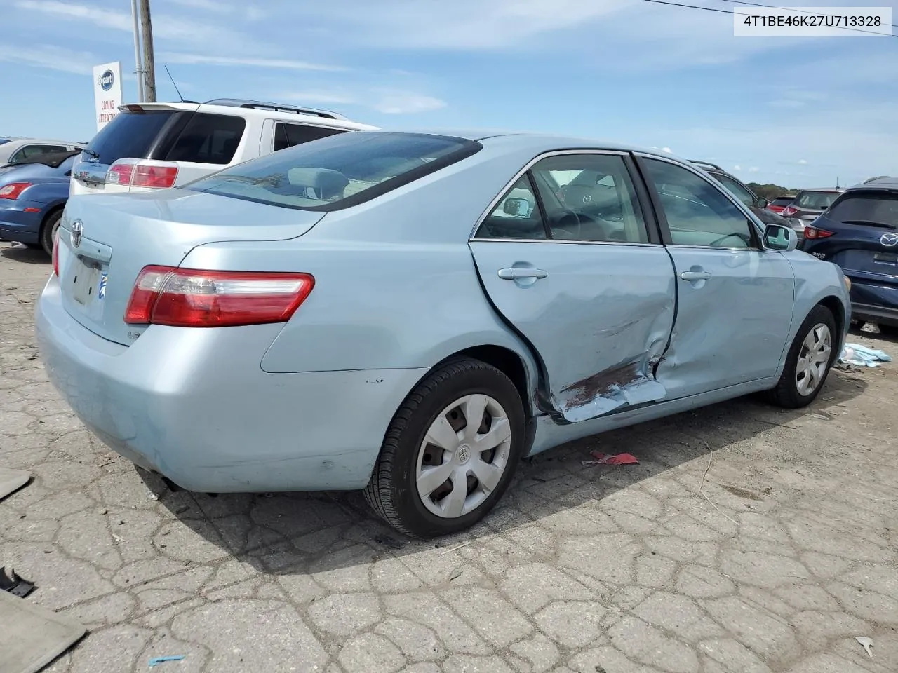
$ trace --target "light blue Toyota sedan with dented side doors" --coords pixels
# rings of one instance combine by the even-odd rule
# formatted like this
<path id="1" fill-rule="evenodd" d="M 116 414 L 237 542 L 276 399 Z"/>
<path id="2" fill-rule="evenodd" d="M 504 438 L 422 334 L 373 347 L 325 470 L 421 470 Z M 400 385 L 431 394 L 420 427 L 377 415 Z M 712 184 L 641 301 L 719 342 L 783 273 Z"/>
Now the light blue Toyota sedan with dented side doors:
<path id="1" fill-rule="evenodd" d="M 820 392 L 850 301 L 668 154 L 540 135 L 334 135 L 183 188 L 72 197 L 40 352 L 113 450 L 200 492 L 365 489 L 470 527 L 518 461 Z"/>

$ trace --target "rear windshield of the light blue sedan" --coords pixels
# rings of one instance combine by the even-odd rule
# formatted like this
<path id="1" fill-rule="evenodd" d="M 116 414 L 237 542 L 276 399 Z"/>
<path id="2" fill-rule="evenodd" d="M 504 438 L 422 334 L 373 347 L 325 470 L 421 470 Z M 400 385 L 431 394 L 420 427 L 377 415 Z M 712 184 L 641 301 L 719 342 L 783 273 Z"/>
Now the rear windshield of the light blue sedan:
<path id="1" fill-rule="evenodd" d="M 445 135 L 370 131 L 331 135 L 220 170 L 187 188 L 286 208 L 339 210 L 478 150 L 480 143 Z"/>

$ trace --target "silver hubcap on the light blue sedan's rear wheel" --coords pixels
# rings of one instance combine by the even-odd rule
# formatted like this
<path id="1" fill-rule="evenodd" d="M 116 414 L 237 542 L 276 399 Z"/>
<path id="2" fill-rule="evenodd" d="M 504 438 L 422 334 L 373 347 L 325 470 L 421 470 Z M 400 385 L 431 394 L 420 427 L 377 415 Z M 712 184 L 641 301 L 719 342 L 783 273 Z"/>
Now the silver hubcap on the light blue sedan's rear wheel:
<path id="1" fill-rule="evenodd" d="M 455 400 L 430 424 L 415 473 L 427 510 L 454 519 L 476 510 L 505 474 L 511 453 L 506 410 L 489 395 Z"/>

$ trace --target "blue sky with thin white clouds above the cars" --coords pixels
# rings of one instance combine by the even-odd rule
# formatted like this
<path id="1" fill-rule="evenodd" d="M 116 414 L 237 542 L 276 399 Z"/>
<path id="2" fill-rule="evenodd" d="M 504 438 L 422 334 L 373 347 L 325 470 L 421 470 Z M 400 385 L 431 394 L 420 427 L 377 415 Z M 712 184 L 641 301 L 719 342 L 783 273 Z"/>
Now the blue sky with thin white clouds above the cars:
<path id="1" fill-rule="evenodd" d="M 814 2 L 870 5 L 898 24 L 896 0 Z M 102 63 L 136 100 L 130 0 L 0 9 L 0 135 L 89 140 Z M 195 101 L 601 138 L 788 188 L 898 175 L 895 38 L 735 37 L 731 14 L 646 0 L 152 0 L 152 16 L 159 101 L 178 98 L 168 66 Z"/>

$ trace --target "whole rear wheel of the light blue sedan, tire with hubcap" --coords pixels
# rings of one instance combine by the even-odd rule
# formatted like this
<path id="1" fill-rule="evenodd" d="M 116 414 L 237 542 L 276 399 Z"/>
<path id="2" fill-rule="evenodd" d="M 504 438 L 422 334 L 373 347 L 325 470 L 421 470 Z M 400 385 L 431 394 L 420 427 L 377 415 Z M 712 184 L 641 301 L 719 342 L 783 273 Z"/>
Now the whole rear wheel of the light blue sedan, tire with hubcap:
<path id="1" fill-rule="evenodd" d="M 421 381 L 383 441 L 365 497 L 417 538 L 470 528 L 502 496 L 524 449 L 524 406 L 495 367 L 455 360 Z"/>

